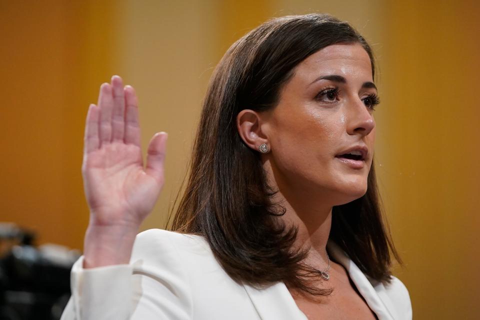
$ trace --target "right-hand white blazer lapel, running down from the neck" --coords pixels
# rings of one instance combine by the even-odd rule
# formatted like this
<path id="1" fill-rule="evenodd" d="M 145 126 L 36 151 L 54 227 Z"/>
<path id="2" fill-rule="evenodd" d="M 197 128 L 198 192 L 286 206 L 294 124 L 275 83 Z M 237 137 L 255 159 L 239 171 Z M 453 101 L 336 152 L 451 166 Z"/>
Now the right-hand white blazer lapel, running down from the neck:
<path id="1" fill-rule="evenodd" d="M 394 320 L 396 315 L 393 317 L 388 310 L 387 305 L 385 305 L 384 301 L 378 295 L 378 292 L 372 286 L 365 274 L 363 274 L 363 272 L 358 268 L 358 266 L 333 241 L 328 241 L 327 248 L 330 255 L 333 256 L 338 263 L 345 267 L 351 280 L 353 283 L 355 283 L 358 292 L 360 292 L 360 294 L 363 296 L 370 309 L 372 309 L 372 311 L 378 316 L 378 319 Z M 381 288 L 383 288 L 383 290 L 381 290 Z M 385 295 L 383 292 L 383 284 L 379 283 L 377 289 L 380 291 L 380 293 Z M 391 306 L 388 297 L 386 297 L 386 300 L 388 302 L 387 304 L 389 304 L 388 306 Z"/>

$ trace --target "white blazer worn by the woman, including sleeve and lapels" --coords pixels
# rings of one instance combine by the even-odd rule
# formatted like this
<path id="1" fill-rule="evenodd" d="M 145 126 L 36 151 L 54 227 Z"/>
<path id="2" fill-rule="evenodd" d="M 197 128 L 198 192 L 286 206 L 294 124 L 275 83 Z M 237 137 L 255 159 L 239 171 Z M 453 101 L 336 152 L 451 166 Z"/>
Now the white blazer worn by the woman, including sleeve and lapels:
<path id="1" fill-rule="evenodd" d="M 368 279 L 332 241 L 341 263 L 378 319 L 410 320 L 410 297 L 393 277 Z M 283 282 L 266 289 L 234 282 L 197 235 L 150 229 L 137 235 L 129 264 L 71 270 L 71 297 L 61 320 L 306 320 Z"/>

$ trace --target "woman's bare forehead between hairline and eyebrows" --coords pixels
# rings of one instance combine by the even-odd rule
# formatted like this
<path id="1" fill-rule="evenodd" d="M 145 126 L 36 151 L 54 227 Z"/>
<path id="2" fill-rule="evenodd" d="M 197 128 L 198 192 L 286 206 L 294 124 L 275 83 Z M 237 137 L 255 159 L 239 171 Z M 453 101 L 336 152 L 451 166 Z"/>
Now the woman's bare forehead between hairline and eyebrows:
<path id="1" fill-rule="evenodd" d="M 325 74 L 372 81 L 370 57 L 359 43 L 333 44 L 309 55 L 295 67 L 295 77 L 305 80 Z"/>

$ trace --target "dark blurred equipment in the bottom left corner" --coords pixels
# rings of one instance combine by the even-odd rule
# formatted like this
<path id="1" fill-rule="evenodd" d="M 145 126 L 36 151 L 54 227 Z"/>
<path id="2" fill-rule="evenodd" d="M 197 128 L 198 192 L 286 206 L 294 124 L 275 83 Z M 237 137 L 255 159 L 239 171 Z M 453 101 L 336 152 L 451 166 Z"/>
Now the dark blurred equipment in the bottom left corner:
<path id="1" fill-rule="evenodd" d="M 33 232 L 0 223 L 0 320 L 58 320 L 68 301 L 78 251 L 34 241 Z"/>

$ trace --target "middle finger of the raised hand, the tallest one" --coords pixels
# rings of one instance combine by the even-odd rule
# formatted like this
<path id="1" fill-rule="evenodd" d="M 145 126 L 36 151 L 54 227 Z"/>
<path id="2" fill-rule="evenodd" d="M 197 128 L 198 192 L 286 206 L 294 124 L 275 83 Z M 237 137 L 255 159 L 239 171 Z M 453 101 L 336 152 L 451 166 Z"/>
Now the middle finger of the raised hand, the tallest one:
<path id="1" fill-rule="evenodd" d="M 123 127 L 125 126 L 125 97 L 123 94 L 123 81 L 118 75 L 111 77 L 113 91 L 113 109 L 111 114 L 111 138 L 112 141 L 123 142 Z"/>

